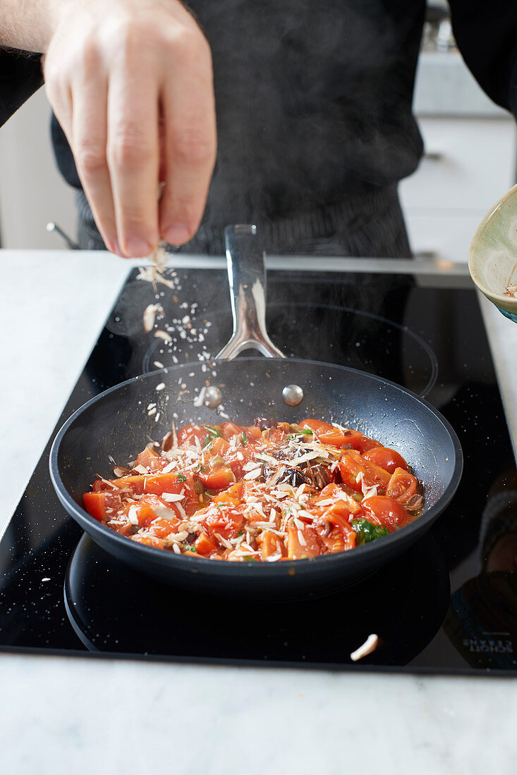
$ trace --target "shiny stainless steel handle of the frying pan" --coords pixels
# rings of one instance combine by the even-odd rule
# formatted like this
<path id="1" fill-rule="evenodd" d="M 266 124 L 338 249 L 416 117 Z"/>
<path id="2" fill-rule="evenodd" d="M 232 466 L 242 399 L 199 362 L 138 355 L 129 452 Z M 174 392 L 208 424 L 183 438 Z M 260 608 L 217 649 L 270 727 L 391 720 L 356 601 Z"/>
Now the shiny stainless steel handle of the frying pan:
<path id="1" fill-rule="evenodd" d="M 266 358 L 285 358 L 265 330 L 265 252 L 260 250 L 257 227 L 227 226 L 224 236 L 234 332 L 216 360 L 232 360 L 250 348 Z"/>

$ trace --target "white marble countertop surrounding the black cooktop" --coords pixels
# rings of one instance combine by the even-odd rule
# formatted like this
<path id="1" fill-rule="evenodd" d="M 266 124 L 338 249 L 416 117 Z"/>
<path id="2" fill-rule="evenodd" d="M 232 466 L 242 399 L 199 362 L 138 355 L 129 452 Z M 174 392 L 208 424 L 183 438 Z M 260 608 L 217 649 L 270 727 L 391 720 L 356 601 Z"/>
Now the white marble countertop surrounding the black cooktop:
<path id="1" fill-rule="evenodd" d="M 130 263 L 0 251 L 0 532 Z M 517 325 L 482 305 L 517 439 Z M 16 775 L 517 770 L 512 679 L 2 653 L 0 687 L 1 769 Z"/>

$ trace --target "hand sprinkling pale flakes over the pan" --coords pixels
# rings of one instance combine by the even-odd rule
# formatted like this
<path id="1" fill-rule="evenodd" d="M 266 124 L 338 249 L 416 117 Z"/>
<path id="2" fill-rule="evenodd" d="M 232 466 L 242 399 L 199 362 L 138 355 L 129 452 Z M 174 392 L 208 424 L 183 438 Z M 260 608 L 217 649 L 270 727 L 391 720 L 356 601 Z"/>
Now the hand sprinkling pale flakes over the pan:
<path id="1" fill-rule="evenodd" d="M 106 246 L 142 257 L 159 239 L 186 243 L 216 154 L 199 26 L 179 0 L 55 0 L 54 14 L 47 96 Z"/>

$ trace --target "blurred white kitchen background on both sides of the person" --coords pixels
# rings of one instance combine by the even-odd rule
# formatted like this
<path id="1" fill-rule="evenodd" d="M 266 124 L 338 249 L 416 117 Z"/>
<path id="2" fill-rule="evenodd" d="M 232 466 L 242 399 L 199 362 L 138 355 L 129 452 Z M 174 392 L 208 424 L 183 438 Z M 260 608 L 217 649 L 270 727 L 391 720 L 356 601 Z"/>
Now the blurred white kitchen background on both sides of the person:
<path id="1" fill-rule="evenodd" d="M 446 8 L 445 0 L 428 8 L 415 88 L 425 155 L 400 192 L 415 255 L 461 262 L 484 213 L 517 180 L 517 132 L 463 64 Z M 0 170 L 0 246 L 66 248 L 46 229 L 56 222 L 75 238 L 74 195 L 54 164 L 44 89 L 2 128 Z"/>

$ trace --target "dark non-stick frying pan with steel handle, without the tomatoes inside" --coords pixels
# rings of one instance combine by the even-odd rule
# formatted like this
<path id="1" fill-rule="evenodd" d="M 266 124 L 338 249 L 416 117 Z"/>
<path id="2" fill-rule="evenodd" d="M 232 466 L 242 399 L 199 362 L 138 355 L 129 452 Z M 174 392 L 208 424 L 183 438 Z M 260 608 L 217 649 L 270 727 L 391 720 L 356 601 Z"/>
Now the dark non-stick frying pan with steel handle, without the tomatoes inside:
<path id="1" fill-rule="evenodd" d="M 329 363 L 287 360 L 265 330 L 265 261 L 255 226 L 229 226 L 226 240 L 234 333 L 217 356 L 226 360 L 215 364 L 210 391 L 200 389 L 207 374 L 202 363 L 182 363 L 110 388 L 78 409 L 57 433 L 50 477 L 68 514 L 99 546 L 154 579 L 237 597 L 321 594 L 369 576 L 429 529 L 459 484 L 460 442 L 435 408 L 393 382 Z M 251 348 L 266 357 L 231 360 Z M 162 382 L 166 388 L 156 391 Z M 283 394 L 293 403 L 302 391 L 300 404 L 286 404 Z M 158 405 L 158 422 L 156 415 L 147 415 L 150 403 Z M 226 418 L 251 425 L 259 416 L 286 422 L 314 416 L 357 428 L 408 460 L 424 484 L 424 512 L 383 539 L 311 560 L 216 562 L 137 544 L 88 515 L 82 494 L 97 472 L 108 474 L 109 456 L 122 464 L 133 460 L 149 439 L 165 435 L 173 416 L 177 427 Z"/>

